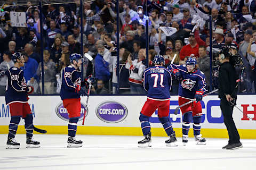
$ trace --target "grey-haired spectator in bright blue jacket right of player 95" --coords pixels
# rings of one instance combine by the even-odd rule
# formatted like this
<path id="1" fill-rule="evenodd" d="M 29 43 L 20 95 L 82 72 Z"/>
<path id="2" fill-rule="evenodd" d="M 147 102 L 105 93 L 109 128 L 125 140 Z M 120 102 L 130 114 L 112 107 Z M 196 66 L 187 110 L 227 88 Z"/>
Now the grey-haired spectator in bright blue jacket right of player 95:
<path id="1" fill-rule="evenodd" d="M 95 78 L 98 80 L 103 80 L 105 87 L 108 89 L 108 80 L 110 79 L 110 72 L 108 63 L 103 60 L 104 46 L 98 45 L 98 54 L 95 57 Z"/>

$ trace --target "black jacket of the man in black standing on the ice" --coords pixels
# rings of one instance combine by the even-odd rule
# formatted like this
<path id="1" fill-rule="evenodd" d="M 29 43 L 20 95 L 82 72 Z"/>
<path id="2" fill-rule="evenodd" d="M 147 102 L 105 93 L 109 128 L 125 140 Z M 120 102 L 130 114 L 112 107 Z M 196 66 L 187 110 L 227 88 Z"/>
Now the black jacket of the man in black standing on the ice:
<path id="1" fill-rule="evenodd" d="M 219 98 L 226 99 L 225 95 L 236 98 L 238 75 L 235 67 L 229 62 L 222 63 L 219 71 Z"/>

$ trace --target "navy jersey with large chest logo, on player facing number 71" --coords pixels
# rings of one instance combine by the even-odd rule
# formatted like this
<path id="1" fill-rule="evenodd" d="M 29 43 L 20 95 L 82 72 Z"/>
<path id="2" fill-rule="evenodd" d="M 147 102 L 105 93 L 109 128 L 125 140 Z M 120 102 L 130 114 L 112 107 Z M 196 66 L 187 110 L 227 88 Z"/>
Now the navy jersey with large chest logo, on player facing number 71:
<path id="1" fill-rule="evenodd" d="M 188 73 L 186 65 L 175 65 L 171 64 L 169 69 L 178 69 L 181 73 L 182 80 L 179 84 L 179 96 L 194 99 L 196 91 L 205 92 L 205 76 L 199 69 L 195 70 L 193 73 Z"/>

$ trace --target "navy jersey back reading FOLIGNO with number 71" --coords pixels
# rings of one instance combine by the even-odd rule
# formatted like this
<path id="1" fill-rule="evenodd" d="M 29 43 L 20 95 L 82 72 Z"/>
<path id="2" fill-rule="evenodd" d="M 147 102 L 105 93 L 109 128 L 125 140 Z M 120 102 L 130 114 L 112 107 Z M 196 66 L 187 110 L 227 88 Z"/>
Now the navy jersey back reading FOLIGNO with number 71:
<path id="1" fill-rule="evenodd" d="M 144 72 L 143 86 L 152 100 L 170 100 L 171 72 L 163 66 L 149 67 Z"/>

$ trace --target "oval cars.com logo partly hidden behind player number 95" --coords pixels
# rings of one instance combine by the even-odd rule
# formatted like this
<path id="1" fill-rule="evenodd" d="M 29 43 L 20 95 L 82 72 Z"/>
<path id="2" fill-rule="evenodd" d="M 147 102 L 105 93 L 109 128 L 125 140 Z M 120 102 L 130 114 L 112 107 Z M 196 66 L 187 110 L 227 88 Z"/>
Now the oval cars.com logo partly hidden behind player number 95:
<path id="1" fill-rule="evenodd" d="M 85 113 L 85 111 L 86 111 L 86 113 Z M 60 103 L 60 104 L 55 108 L 55 112 L 56 112 L 56 114 L 57 114 L 62 120 L 69 121 L 68 111 L 67 111 L 66 108 L 63 107 L 63 103 Z M 88 108 L 87 108 L 87 107 L 85 108 L 85 104 L 81 103 L 81 115 L 80 115 L 78 121 L 83 120 L 84 113 L 85 113 L 85 117 L 86 117 L 87 114 L 88 114 Z"/>

